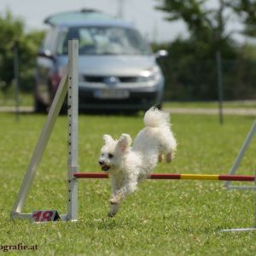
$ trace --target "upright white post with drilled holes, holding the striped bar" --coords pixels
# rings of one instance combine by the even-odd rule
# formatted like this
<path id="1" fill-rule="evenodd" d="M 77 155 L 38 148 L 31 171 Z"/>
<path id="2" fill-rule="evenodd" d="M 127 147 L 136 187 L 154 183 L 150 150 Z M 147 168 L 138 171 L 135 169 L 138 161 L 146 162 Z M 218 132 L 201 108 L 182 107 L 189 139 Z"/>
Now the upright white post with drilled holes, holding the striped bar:
<path id="1" fill-rule="evenodd" d="M 73 177 L 78 172 L 78 115 L 79 115 L 79 40 L 68 41 L 68 172 L 67 172 L 67 220 L 78 219 L 78 181 Z"/>

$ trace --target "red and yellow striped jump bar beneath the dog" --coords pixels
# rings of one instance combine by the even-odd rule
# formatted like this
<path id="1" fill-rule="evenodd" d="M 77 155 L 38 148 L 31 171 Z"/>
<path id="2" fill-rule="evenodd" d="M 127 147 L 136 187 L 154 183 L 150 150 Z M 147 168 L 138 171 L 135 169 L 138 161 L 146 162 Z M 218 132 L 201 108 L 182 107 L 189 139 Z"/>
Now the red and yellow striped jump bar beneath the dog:
<path id="1" fill-rule="evenodd" d="M 104 172 L 77 172 L 73 174 L 77 178 L 108 178 L 108 173 Z M 150 179 L 186 179 L 186 180 L 223 180 L 223 181 L 244 181 L 253 182 L 254 176 L 248 175 L 212 175 L 212 174 L 172 174 L 155 173 Z"/>

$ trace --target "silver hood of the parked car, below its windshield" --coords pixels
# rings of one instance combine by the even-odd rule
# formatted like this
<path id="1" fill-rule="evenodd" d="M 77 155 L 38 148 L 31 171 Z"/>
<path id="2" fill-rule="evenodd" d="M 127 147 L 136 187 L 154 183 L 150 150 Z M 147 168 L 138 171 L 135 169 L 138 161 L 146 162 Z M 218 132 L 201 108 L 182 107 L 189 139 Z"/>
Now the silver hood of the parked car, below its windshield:
<path id="1" fill-rule="evenodd" d="M 59 61 L 62 64 L 67 63 L 67 57 L 63 56 Z M 79 73 L 86 75 L 138 75 L 143 70 L 151 69 L 155 65 L 156 61 L 153 55 L 79 56 Z"/>

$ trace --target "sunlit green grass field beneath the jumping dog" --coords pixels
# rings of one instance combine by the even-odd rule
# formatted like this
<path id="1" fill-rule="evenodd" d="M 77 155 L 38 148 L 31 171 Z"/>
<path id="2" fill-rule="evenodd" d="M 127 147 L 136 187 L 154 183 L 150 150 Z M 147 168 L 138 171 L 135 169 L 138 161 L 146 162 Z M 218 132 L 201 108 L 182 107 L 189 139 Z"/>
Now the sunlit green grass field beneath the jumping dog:
<path id="1" fill-rule="evenodd" d="M 177 157 L 154 172 L 229 172 L 253 117 L 172 115 Z M 39 255 L 255 255 L 256 232 L 220 233 L 219 230 L 253 226 L 253 192 L 227 191 L 224 183 L 146 181 L 123 203 L 115 218 L 105 218 L 109 181 L 79 181 L 77 223 L 30 224 L 10 221 L 9 213 L 26 172 L 45 116 L 0 113 L 0 246 L 22 243 Z M 100 172 L 97 157 L 102 135 L 135 137 L 143 116 L 82 115 L 79 117 L 80 172 Z M 239 173 L 255 170 L 255 139 Z M 59 117 L 24 212 L 67 206 L 67 118 Z M 3 249 L 2 249 L 3 251 Z"/>

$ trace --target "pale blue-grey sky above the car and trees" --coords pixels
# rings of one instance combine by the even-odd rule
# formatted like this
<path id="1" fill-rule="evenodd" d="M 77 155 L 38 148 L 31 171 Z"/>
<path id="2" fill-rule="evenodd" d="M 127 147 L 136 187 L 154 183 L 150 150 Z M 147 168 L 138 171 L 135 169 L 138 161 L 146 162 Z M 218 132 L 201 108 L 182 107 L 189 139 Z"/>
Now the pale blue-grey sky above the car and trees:
<path id="1" fill-rule="evenodd" d="M 124 3 L 125 21 L 133 23 L 143 36 L 150 41 L 172 41 L 177 36 L 186 37 L 186 27 L 182 21 L 167 22 L 165 14 L 154 7 L 160 0 L 1 0 L 0 14 L 10 9 L 14 15 L 26 21 L 27 30 L 45 28 L 44 19 L 52 14 L 83 8 L 99 9 L 109 15 L 117 15 L 119 2 Z M 214 7 L 218 0 L 208 0 L 208 7 Z M 231 26 L 234 26 L 232 23 Z"/>

